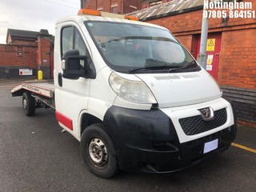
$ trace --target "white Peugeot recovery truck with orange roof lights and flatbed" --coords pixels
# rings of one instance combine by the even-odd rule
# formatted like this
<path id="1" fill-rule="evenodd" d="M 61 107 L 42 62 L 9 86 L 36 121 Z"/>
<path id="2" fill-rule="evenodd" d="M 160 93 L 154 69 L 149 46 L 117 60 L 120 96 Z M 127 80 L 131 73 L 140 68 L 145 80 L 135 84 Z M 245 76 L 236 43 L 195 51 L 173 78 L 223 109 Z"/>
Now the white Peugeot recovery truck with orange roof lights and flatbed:
<path id="1" fill-rule="evenodd" d="M 169 30 L 129 15 L 79 10 L 56 23 L 54 82 L 24 82 L 27 116 L 50 106 L 86 166 L 169 173 L 228 149 L 234 112 Z"/>

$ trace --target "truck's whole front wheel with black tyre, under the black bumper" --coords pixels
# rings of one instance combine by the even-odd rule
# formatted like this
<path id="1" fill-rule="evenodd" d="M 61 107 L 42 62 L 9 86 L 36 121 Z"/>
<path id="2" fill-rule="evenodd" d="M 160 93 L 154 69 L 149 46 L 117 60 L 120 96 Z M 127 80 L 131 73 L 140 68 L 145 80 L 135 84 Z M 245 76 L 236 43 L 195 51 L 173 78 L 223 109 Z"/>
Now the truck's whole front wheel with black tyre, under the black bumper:
<path id="1" fill-rule="evenodd" d="M 111 178 L 119 172 L 114 145 L 106 134 L 106 127 L 94 124 L 82 133 L 82 158 L 88 169 L 101 178 Z"/>

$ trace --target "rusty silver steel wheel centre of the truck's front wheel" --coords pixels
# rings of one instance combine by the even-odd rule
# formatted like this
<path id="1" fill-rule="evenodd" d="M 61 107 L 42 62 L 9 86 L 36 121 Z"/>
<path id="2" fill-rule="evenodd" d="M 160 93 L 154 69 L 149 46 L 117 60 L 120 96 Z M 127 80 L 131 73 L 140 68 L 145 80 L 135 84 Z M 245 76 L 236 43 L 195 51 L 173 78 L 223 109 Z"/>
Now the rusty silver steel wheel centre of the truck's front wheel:
<path id="1" fill-rule="evenodd" d="M 99 138 L 93 138 L 89 145 L 90 159 L 97 166 L 105 166 L 108 158 L 106 145 Z"/>

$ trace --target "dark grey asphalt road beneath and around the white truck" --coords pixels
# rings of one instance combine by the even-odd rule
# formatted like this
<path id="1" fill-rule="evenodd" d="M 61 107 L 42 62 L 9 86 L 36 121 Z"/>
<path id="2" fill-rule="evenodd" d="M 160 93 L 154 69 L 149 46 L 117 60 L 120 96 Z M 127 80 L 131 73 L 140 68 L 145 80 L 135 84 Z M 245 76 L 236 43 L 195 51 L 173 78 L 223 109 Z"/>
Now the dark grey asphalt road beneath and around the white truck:
<path id="1" fill-rule="evenodd" d="M 27 118 L 21 98 L 11 98 L 10 89 L 2 87 L 0 83 L 1 192 L 256 190 L 256 154 L 235 146 L 172 174 L 121 172 L 98 178 L 86 170 L 79 142 L 61 133 L 54 110 L 39 109 Z M 240 127 L 235 142 L 256 149 L 256 129 Z"/>

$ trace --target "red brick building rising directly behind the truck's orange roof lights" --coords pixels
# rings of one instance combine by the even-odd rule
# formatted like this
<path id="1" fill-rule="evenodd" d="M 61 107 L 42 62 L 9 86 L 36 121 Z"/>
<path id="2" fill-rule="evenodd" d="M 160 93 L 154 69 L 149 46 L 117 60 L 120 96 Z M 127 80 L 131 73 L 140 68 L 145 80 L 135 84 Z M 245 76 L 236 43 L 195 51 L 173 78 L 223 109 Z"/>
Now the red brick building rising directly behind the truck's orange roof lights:
<path id="1" fill-rule="evenodd" d="M 141 0 L 83 0 L 86 9 L 100 10 L 114 14 L 128 14 L 141 10 Z"/>

